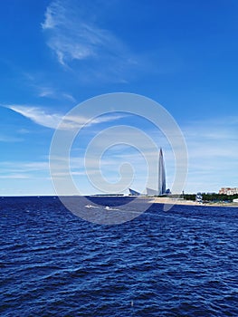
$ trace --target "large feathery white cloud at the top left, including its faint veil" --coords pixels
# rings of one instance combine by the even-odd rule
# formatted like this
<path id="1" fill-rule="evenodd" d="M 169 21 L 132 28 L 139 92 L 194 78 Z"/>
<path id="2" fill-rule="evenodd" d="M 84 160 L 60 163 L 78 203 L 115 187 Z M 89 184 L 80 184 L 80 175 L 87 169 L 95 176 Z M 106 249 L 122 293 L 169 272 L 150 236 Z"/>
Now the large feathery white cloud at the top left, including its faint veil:
<path id="1" fill-rule="evenodd" d="M 91 8 L 89 2 L 54 0 L 46 8 L 42 28 L 48 46 L 66 68 L 70 68 L 72 61 L 90 60 L 90 71 L 84 72 L 83 77 L 94 72 L 94 76 L 105 78 L 109 72 L 118 75 L 117 81 L 125 81 L 119 74 L 136 61 L 115 34 L 100 28 L 97 12 L 105 4 L 94 3 Z M 82 64 L 76 67 L 77 72 L 81 67 Z"/>

